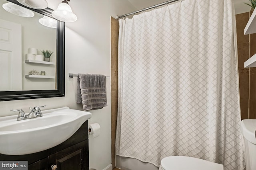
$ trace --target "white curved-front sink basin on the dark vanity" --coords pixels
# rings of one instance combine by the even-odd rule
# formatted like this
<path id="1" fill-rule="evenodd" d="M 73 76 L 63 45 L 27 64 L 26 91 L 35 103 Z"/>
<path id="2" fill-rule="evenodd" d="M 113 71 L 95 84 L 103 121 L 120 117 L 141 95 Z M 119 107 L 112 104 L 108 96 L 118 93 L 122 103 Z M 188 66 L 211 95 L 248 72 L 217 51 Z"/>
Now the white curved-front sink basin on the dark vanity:
<path id="1" fill-rule="evenodd" d="M 17 121 L 17 115 L 0 117 L 0 153 L 22 155 L 40 152 L 70 138 L 92 117 L 69 107 L 42 111 L 42 117 Z"/>

